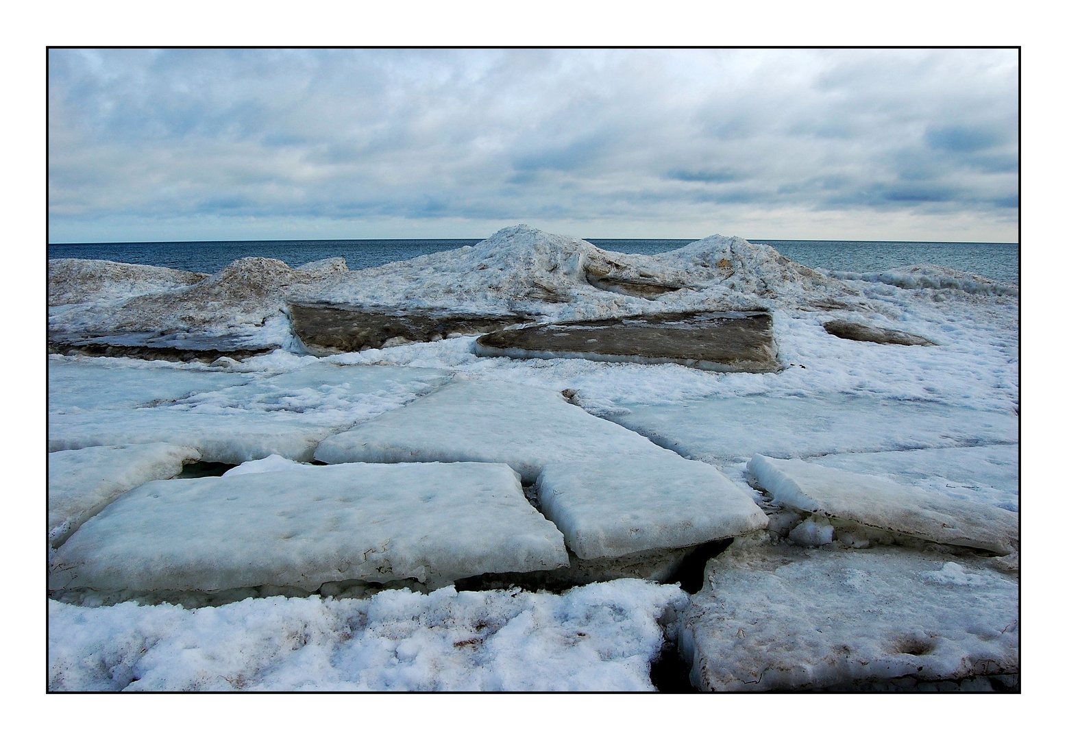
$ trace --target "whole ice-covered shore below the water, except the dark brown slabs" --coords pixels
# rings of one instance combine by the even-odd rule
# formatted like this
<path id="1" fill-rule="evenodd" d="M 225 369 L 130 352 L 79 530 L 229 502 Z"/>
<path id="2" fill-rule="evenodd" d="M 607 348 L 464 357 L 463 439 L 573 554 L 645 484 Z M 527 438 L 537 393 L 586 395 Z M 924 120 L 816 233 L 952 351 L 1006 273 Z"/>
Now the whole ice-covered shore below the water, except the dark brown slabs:
<path id="1" fill-rule="evenodd" d="M 202 276 L 50 262 L 50 341 L 118 355 L 48 361 L 52 690 L 653 690 L 675 649 L 703 690 L 1017 686 L 1016 286 L 821 272 L 738 238 L 641 255 L 520 226 L 459 246 Z M 482 356 L 475 334 L 387 327 L 316 356 L 290 308 L 312 303 L 529 325 L 760 311 L 780 370 Z M 121 356 L 153 342 L 216 352 Z M 238 467 L 171 480 L 197 461 Z"/>

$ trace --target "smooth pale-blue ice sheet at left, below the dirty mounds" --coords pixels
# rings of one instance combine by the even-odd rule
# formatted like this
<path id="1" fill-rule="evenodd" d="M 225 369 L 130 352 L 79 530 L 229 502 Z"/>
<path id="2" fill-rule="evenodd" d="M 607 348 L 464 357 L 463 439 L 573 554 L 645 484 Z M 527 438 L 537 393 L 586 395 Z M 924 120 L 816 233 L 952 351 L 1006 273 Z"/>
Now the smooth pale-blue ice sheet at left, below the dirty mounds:
<path id="1" fill-rule="evenodd" d="M 161 441 L 194 447 L 204 460 L 223 463 L 271 454 L 309 461 L 324 437 L 450 377 L 441 370 L 341 367 L 287 353 L 238 364 L 245 372 L 143 360 L 53 361 L 59 371 L 49 384 L 49 450 Z"/>

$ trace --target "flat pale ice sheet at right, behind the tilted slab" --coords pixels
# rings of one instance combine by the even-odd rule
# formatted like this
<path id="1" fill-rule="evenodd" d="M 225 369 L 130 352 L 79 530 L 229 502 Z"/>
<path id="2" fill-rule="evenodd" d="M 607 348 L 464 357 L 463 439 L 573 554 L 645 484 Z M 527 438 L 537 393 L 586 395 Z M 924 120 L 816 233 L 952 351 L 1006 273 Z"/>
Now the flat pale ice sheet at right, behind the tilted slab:
<path id="1" fill-rule="evenodd" d="M 1019 441 L 1019 417 L 1012 414 L 846 393 L 708 398 L 626 409 L 611 419 L 681 455 L 715 463 L 753 454 L 808 457 Z"/>

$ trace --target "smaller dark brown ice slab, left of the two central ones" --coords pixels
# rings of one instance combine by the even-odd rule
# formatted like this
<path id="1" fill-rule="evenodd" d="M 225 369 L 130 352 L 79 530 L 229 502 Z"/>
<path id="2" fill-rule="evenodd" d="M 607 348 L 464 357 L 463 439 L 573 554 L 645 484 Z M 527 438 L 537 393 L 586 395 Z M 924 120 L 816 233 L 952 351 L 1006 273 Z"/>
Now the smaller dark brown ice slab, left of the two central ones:
<path id="1" fill-rule="evenodd" d="M 379 349 L 391 340 L 426 342 L 452 335 L 484 334 L 531 320 L 519 313 L 375 310 L 314 303 L 289 304 L 289 316 L 293 333 L 316 354 Z"/>

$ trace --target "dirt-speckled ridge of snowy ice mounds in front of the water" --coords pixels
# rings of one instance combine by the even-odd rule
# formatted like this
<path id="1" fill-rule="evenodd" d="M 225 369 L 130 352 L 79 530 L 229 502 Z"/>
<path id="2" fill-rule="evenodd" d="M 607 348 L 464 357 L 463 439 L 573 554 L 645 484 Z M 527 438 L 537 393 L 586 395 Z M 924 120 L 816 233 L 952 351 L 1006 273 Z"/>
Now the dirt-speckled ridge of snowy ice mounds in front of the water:
<path id="1" fill-rule="evenodd" d="M 127 268 L 141 275 L 143 270 L 79 262 L 74 272 L 55 266 L 55 280 L 67 286 L 64 300 L 77 302 L 49 312 L 49 335 L 64 347 L 93 337 L 121 344 L 123 335 L 143 335 L 138 341 L 155 338 L 175 347 L 220 341 L 250 350 L 299 349 L 287 313 L 293 303 L 517 312 L 558 321 L 748 310 L 768 301 L 842 306 L 843 296 L 858 295 L 841 280 L 737 237 L 714 236 L 665 254 L 631 255 L 523 225 L 500 229 L 474 246 L 351 272 L 332 262 L 293 269 L 276 259 L 245 257 L 192 285 L 184 280 L 200 275 L 170 271 L 152 278 L 155 283 L 147 277 L 111 280 L 101 289 L 89 276 Z M 85 285 L 79 287 L 82 275 Z"/>

